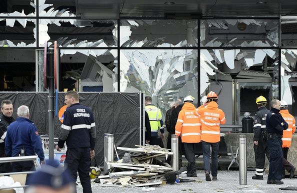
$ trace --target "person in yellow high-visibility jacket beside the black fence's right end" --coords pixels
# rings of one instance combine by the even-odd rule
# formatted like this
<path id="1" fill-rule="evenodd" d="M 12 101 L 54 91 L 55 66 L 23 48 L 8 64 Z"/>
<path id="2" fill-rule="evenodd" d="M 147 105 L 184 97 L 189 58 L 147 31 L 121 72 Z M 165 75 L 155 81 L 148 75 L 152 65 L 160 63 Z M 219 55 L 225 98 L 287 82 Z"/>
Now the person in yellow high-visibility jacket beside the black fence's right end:
<path id="1" fill-rule="evenodd" d="M 151 97 L 145 96 L 144 98 L 145 103 L 145 111 L 148 114 L 149 123 L 150 123 L 150 140 L 149 144 L 151 145 L 159 145 L 160 147 L 164 147 L 163 141 L 164 140 L 164 128 L 163 128 L 163 120 L 162 120 L 162 113 L 161 110 L 151 103 Z M 160 140 L 158 138 L 158 129 L 160 129 Z"/>

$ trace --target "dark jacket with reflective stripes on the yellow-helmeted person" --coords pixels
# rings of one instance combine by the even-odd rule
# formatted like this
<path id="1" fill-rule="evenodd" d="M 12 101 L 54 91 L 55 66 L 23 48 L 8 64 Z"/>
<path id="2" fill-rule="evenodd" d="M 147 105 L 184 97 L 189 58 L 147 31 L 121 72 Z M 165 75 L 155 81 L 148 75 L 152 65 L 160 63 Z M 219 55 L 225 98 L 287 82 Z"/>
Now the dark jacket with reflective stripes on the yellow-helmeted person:
<path id="1" fill-rule="evenodd" d="M 263 137 L 263 132 L 266 130 L 266 115 L 270 110 L 268 110 L 265 106 L 260 107 L 255 115 L 253 122 L 253 140 L 258 141 Z"/>

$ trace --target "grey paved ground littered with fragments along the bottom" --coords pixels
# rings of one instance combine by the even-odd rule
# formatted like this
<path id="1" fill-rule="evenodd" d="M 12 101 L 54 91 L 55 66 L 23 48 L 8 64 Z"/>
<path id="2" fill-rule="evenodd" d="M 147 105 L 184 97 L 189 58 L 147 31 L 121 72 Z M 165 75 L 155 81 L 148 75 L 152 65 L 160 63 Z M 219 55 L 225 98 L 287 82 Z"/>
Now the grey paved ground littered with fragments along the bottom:
<path id="1" fill-rule="evenodd" d="M 202 170 L 197 170 L 197 177 L 187 177 L 195 179 L 197 182 L 175 183 L 166 185 L 157 185 L 152 192 L 297 192 L 279 190 L 279 187 L 297 186 L 297 178 L 283 179 L 284 184 L 267 184 L 267 174 L 264 174 L 264 180 L 253 180 L 251 176 L 254 171 L 247 171 L 247 185 L 239 185 L 239 171 L 218 171 L 217 181 L 205 181 L 205 175 Z M 181 174 L 185 176 L 185 174 Z M 113 192 L 145 192 L 142 187 L 101 187 L 99 183 L 92 183 L 92 191 L 113 193 Z M 82 192 L 81 185 L 77 185 L 77 192 Z"/>

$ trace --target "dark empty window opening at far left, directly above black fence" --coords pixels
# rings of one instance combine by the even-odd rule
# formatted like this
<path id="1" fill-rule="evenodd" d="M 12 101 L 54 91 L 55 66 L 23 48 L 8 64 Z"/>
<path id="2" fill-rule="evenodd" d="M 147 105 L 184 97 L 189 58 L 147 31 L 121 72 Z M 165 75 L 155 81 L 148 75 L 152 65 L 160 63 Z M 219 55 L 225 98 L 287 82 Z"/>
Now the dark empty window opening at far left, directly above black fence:
<path id="1" fill-rule="evenodd" d="M 35 49 L 0 49 L 0 91 L 35 91 Z"/>

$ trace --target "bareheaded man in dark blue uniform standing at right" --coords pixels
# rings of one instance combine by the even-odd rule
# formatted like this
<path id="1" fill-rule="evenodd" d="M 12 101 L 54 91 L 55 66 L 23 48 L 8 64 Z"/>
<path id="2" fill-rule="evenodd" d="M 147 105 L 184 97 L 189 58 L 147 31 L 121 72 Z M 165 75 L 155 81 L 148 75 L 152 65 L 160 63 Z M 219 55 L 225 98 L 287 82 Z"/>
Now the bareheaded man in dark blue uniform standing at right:
<path id="1" fill-rule="evenodd" d="M 282 131 L 288 128 L 288 124 L 279 113 L 280 102 L 277 99 L 270 101 L 271 110 L 266 116 L 267 146 L 270 151 L 269 174 L 267 183 L 283 184 L 282 178 Z"/>

